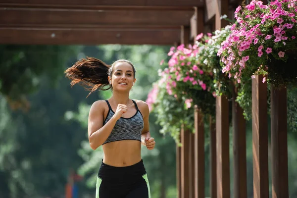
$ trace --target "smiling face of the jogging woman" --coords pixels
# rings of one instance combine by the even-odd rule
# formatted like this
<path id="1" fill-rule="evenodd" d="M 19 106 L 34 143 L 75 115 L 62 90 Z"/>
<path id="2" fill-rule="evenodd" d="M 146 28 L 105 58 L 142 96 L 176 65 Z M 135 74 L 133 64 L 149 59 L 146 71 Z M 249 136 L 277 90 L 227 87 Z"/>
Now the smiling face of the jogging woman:
<path id="1" fill-rule="evenodd" d="M 111 78 L 108 76 L 108 81 L 111 81 L 113 90 L 130 91 L 136 81 L 133 67 L 128 62 L 117 62 L 112 68 Z"/>

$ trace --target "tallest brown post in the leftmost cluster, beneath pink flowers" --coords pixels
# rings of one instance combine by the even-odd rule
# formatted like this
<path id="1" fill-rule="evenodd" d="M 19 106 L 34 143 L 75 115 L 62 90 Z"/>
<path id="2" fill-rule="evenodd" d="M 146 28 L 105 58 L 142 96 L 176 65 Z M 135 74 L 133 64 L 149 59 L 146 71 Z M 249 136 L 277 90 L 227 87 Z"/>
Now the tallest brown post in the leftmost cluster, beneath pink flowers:
<path id="1" fill-rule="evenodd" d="M 197 106 L 194 112 L 195 119 L 195 197 L 204 198 L 204 122 L 201 112 Z"/>

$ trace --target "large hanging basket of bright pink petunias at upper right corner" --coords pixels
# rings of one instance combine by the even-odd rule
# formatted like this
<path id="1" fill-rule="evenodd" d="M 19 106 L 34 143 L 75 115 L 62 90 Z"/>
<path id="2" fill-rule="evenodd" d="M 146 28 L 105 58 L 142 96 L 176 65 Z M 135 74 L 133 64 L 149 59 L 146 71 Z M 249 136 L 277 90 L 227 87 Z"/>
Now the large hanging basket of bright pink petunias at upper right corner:
<path id="1" fill-rule="evenodd" d="M 238 83 L 254 75 L 276 87 L 297 83 L 297 1 L 252 0 L 235 11 L 237 23 L 219 50 L 223 72 Z"/>

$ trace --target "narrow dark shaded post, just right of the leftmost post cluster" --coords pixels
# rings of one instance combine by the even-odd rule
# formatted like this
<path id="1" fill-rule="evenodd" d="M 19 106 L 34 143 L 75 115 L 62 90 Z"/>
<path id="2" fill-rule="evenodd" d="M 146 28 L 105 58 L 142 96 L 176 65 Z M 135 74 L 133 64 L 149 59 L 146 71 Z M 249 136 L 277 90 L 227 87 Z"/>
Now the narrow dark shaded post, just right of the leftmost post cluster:
<path id="1" fill-rule="evenodd" d="M 217 174 L 216 174 L 216 132 L 215 132 L 215 119 L 211 116 L 209 118 L 209 152 L 210 152 L 210 197 L 217 197 Z"/>

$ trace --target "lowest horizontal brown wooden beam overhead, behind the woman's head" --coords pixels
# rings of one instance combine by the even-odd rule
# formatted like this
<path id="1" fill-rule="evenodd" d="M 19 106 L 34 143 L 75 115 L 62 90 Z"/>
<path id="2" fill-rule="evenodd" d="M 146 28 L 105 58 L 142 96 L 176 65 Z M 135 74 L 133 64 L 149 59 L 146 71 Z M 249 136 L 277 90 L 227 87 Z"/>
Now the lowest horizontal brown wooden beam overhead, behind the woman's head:
<path id="1" fill-rule="evenodd" d="M 179 30 L 88 30 L 0 28 L 0 44 L 27 45 L 172 45 Z"/>

